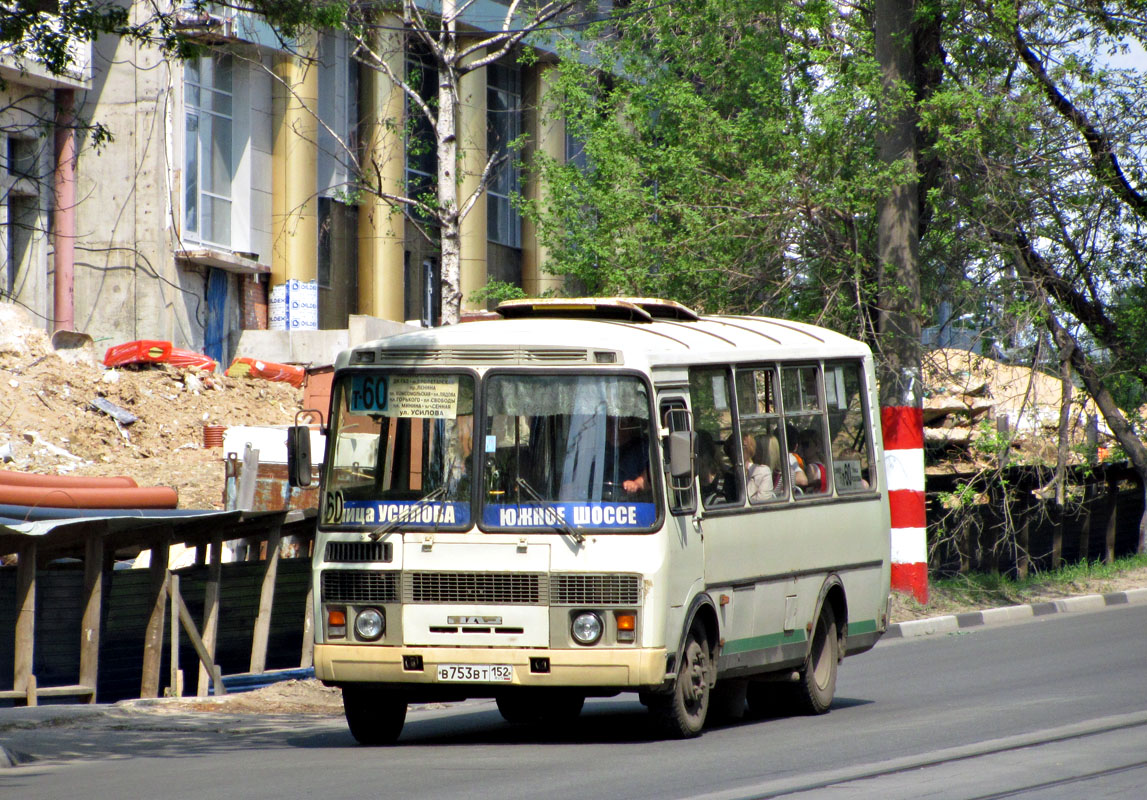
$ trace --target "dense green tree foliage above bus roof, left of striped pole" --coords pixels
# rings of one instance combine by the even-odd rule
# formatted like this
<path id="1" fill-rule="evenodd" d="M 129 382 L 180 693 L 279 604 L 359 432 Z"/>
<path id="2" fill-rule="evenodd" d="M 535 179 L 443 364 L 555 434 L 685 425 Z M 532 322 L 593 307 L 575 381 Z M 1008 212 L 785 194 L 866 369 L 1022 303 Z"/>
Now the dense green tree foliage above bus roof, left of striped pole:
<path id="1" fill-rule="evenodd" d="M 569 57 L 555 80 L 587 169 L 532 163 L 547 269 L 592 294 L 859 333 L 891 177 L 871 146 L 877 72 L 833 40 L 837 24 L 830 3 L 699 0 L 591 32 L 611 77 Z"/>

